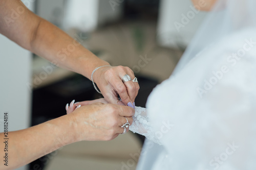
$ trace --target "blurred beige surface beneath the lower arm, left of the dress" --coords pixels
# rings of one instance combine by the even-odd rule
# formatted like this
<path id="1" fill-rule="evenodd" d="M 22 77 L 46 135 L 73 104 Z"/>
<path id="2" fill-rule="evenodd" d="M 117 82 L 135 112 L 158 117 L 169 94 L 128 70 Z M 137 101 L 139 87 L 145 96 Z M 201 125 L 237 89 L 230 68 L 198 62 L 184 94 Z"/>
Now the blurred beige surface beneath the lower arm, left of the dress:
<path id="1" fill-rule="evenodd" d="M 112 141 L 82 141 L 67 145 L 51 154 L 46 170 L 135 169 L 141 143 L 129 132 Z"/>

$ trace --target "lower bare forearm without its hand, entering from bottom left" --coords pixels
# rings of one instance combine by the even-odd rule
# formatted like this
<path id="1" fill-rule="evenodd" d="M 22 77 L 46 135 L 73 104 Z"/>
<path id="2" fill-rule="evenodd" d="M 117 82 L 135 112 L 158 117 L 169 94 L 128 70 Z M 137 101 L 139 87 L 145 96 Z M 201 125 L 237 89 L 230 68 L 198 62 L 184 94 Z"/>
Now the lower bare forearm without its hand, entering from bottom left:
<path id="1" fill-rule="evenodd" d="M 61 116 L 46 123 L 8 133 L 8 166 L 2 161 L 0 169 L 14 169 L 77 141 L 72 115 Z M 4 133 L 1 133 L 2 139 Z M 0 155 L 5 155 L 5 143 L 0 142 Z M 3 157 L 2 157 L 3 159 Z"/>

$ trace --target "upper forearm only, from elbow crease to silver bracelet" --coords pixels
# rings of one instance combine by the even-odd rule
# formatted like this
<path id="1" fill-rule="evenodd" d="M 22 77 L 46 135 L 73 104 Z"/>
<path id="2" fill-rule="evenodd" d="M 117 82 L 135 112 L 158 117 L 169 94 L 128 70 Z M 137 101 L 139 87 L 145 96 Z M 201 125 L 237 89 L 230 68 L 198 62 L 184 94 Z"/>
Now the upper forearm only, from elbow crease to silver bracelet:
<path id="1" fill-rule="evenodd" d="M 38 27 L 31 39 L 31 51 L 44 57 L 57 66 L 78 72 L 91 78 L 92 71 L 108 62 L 99 59 L 84 48 L 80 42 L 65 32 L 38 17 Z"/>

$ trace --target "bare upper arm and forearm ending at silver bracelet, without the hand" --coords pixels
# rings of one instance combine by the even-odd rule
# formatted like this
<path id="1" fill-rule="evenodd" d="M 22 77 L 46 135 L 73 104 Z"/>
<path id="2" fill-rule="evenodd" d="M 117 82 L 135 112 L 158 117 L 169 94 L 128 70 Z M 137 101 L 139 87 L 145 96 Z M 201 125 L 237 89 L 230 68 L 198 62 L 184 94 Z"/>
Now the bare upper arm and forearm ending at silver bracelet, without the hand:
<path id="1" fill-rule="evenodd" d="M 18 14 L 15 18 L 14 12 Z M 93 69 L 109 65 L 19 0 L 0 0 L 0 33 L 55 65 L 89 79 Z"/>

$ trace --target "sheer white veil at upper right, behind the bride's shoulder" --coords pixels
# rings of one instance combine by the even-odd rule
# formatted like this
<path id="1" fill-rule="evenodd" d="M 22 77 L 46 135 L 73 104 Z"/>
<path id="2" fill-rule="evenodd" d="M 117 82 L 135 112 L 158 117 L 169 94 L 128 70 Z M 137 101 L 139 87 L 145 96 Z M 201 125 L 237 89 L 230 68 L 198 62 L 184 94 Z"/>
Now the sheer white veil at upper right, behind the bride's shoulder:
<path id="1" fill-rule="evenodd" d="M 255 8 L 254 0 L 219 0 L 188 45 L 173 74 L 181 70 L 202 49 L 221 38 L 242 29 L 256 29 Z"/>

